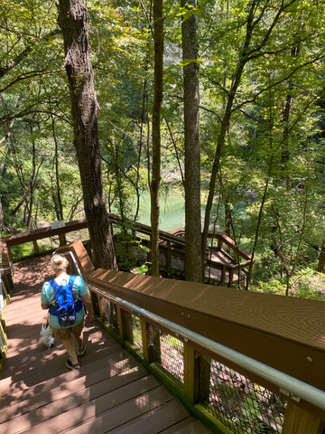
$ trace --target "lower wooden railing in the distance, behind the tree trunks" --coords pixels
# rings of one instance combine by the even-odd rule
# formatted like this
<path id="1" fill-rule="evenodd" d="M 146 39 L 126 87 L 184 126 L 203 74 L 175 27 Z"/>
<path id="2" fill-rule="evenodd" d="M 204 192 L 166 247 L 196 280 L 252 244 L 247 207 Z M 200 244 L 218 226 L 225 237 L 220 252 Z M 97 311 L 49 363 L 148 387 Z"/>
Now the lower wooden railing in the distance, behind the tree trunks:
<path id="1" fill-rule="evenodd" d="M 116 214 L 109 214 L 110 220 L 113 224 L 121 223 L 121 218 Z M 146 260 L 151 262 L 150 258 L 150 237 L 151 228 L 143 223 L 129 222 L 132 231 L 136 234 L 145 235 L 146 240 L 142 240 L 144 245 L 149 248 Z M 81 231 L 88 227 L 85 219 L 76 222 L 67 222 L 60 227 L 44 227 L 34 231 L 17 233 L 5 237 L 4 241 L 8 249 L 8 256 L 10 260 L 14 259 L 12 248 L 14 246 L 32 242 L 34 253 L 39 253 L 38 241 L 59 237 L 59 245 L 65 244 L 65 234 L 73 231 Z M 184 262 L 185 262 L 185 239 L 184 230 L 179 229 L 173 232 L 160 231 L 160 271 L 163 277 L 166 278 L 184 278 Z M 209 238 L 218 241 L 218 246 L 209 246 L 207 250 L 207 259 L 205 261 L 206 273 L 205 282 L 217 284 L 221 286 L 232 287 L 238 281 L 246 284 L 246 268 L 250 264 L 251 256 L 246 250 L 240 248 L 232 241 L 227 235 L 216 232 L 212 235 L 209 233 Z M 230 254 L 227 253 L 224 246 L 227 246 Z M 210 259 L 210 253 L 215 250 L 222 252 L 224 260 Z M 176 259 L 176 260 L 175 260 Z M 177 261 L 177 259 L 181 259 Z M 229 259 L 229 260 L 227 260 Z M 243 261 L 244 259 L 244 261 Z M 214 273 L 213 270 L 216 270 Z"/>

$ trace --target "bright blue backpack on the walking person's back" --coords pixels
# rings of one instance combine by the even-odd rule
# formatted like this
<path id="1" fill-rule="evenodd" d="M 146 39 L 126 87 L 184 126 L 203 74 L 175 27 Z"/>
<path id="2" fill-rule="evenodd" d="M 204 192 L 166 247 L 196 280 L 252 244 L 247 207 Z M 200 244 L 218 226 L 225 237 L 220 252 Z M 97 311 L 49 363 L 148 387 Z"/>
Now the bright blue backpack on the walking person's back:
<path id="1" fill-rule="evenodd" d="M 67 285 L 58 285 L 55 280 L 49 283 L 54 289 L 54 298 L 57 306 L 50 307 L 50 314 L 58 316 L 61 327 L 72 327 L 76 322 L 76 312 L 82 309 L 82 300 L 75 302 L 73 297 L 73 282 L 76 276 L 70 276 Z"/>

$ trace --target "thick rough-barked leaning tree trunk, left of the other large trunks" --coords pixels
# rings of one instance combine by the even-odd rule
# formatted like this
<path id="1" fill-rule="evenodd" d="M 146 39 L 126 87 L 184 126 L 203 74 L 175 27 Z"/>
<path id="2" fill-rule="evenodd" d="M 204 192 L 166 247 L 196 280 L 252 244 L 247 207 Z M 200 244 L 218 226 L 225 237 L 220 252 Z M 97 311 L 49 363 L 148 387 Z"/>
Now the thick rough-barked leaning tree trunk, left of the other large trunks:
<path id="1" fill-rule="evenodd" d="M 77 150 L 84 207 L 95 267 L 116 269 L 112 228 L 103 188 L 98 139 L 98 101 L 88 42 L 87 8 L 83 0 L 60 0 L 74 145 Z"/>

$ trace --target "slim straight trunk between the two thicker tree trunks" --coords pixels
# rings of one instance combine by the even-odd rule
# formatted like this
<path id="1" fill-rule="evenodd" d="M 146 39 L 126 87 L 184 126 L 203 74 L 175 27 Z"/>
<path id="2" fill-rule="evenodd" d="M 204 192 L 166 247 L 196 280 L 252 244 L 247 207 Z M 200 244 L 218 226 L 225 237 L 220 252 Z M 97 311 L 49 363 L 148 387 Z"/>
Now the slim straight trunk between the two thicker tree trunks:
<path id="1" fill-rule="evenodd" d="M 159 188 L 161 181 L 161 111 L 163 102 L 163 0 L 153 1 L 153 173 L 151 181 L 152 275 L 159 276 Z"/>

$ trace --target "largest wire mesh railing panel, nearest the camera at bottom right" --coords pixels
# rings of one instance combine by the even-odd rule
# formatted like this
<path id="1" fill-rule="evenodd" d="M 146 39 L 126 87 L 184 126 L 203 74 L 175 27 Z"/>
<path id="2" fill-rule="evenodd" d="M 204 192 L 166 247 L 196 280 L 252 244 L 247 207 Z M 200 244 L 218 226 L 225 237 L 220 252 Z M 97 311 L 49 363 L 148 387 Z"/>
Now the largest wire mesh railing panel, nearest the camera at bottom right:
<path id="1" fill-rule="evenodd" d="M 201 403 L 234 434 L 282 432 L 286 402 L 280 396 L 215 360 L 208 381 L 204 370 L 201 375 Z"/>

